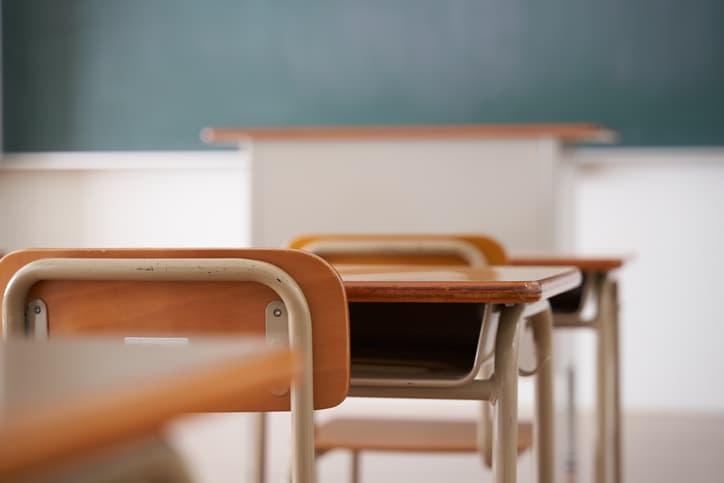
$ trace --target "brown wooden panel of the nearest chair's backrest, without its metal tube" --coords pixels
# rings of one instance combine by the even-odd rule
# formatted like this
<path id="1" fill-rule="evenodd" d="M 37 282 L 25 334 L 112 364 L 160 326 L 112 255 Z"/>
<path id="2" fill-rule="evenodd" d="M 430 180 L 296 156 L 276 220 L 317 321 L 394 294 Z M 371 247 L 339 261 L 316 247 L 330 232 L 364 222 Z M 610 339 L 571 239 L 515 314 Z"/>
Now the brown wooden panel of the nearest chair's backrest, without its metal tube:
<path id="1" fill-rule="evenodd" d="M 300 250 L 58 249 L 23 250 L 0 260 L 0 293 L 26 264 L 46 258 L 244 258 L 271 263 L 300 286 L 312 319 L 314 406 L 339 404 L 349 385 L 347 299 L 339 275 L 319 257 Z M 42 281 L 27 301 L 48 308 L 48 335 L 264 336 L 265 309 L 279 296 L 252 282 Z M 239 401 L 228 411 L 282 411 L 289 395 L 269 395 L 262 407 Z"/>

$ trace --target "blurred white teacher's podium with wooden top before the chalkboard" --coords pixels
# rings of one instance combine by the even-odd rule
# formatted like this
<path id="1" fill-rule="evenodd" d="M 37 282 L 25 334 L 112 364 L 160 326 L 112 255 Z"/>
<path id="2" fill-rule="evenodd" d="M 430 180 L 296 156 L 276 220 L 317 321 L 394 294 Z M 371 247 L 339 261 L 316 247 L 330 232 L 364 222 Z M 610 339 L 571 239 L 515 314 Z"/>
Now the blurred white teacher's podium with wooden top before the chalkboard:
<path id="1" fill-rule="evenodd" d="M 571 143 L 594 124 L 208 128 L 251 163 L 252 245 L 299 233 L 494 233 L 514 251 L 570 250 Z"/>

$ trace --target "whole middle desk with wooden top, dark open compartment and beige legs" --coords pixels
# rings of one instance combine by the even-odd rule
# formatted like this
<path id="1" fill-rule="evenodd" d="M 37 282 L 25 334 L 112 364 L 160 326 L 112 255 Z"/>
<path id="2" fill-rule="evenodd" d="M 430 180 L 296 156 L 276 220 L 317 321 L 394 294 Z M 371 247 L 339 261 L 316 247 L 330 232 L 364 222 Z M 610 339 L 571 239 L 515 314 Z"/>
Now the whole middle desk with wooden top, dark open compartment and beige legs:
<path id="1" fill-rule="evenodd" d="M 350 302 L 350 395 L 491 401 L 496 482 L 516 481 L 518 331 L 522 320 L 529 319 L 537 352 L 534 448 L 539 481 L 554 481 L 552 319 L 547 300 L 580 284 L 576 268 L 335 268 Z M 462 330 L 467 324 L 460 309 L 467 308 L 478 324 L 474 333 Z M 477 316 L 475 310 L 480 310 Z M 426 319 L 437 324 L 427 341 Z M 485 327 L 494 321 L 494 353 L 487 353 Z M 462 354 L 465 351 L 471 354 Z M 493 374 L 477 379 L 483 361 L 492 355 Z"/>

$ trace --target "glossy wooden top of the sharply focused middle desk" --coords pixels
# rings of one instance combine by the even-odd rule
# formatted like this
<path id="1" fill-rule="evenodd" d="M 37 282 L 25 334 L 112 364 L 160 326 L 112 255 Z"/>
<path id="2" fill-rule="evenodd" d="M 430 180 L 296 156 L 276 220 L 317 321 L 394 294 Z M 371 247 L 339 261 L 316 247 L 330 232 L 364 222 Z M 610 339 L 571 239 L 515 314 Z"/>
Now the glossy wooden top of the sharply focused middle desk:
<path id="1" fill-rule="evenodd" d="M 526 303 L 577 287 L 575 267 L 337 265 L 351 302 Z"/>

